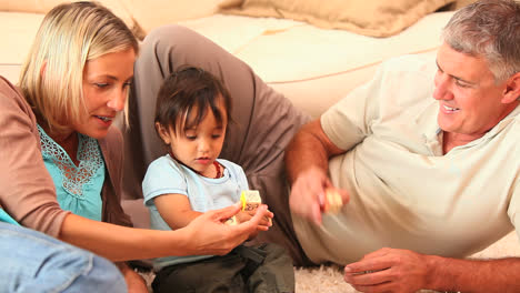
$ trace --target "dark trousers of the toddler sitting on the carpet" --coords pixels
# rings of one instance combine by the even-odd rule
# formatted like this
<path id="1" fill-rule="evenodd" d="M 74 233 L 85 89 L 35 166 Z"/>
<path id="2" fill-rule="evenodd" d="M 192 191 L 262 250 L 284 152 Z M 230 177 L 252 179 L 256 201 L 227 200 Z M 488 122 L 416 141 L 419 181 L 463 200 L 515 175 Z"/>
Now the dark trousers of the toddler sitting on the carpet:
<path id="1" fill-rule="evenodd" d="M 281 293 L 294 292 L 291 257 L 279 245 L 240 245 L 227 255 L 162 269 L 154 293 Z"/>

